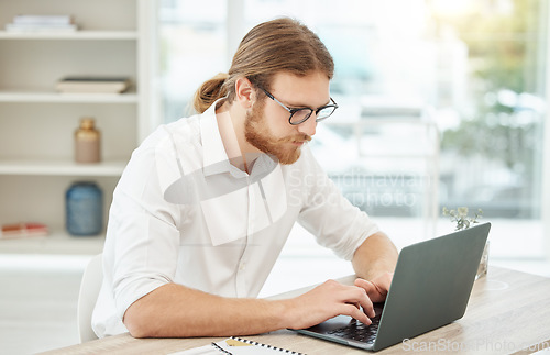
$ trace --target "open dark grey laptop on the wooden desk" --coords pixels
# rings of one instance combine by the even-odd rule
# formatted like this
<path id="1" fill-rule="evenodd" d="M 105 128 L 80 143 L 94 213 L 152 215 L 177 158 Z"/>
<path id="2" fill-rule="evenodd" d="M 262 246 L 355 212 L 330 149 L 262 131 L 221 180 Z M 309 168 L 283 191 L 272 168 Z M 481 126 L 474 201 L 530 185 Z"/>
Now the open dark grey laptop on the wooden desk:
<path id="1" fill-rule="evenodd" d="M 491 223 L 406 246 L 373 324 L 338 315 L 298 333 L 380 351 L 464 315 Z"/>

